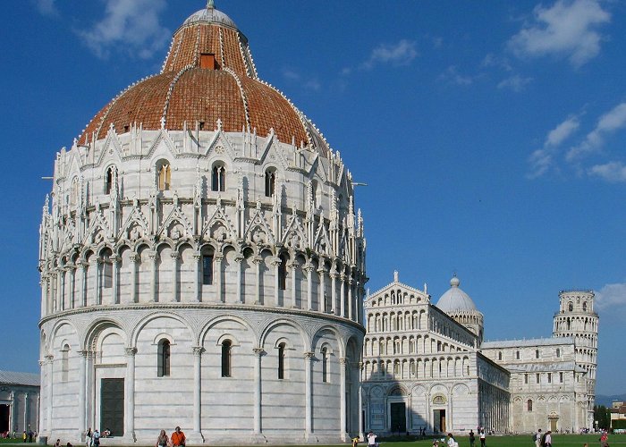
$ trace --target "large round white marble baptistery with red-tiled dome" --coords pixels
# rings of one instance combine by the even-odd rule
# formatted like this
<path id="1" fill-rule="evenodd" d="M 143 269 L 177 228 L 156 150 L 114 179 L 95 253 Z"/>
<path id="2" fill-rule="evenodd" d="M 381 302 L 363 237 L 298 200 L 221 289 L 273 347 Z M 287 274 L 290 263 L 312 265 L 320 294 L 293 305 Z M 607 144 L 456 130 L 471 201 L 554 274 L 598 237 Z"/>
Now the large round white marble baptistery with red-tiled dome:
<path id="1" fill-rule="evenodd" d="M 337 443 L 362 432 L 351 173 L 209 2 L 55 157 L 39 433 Z"/>

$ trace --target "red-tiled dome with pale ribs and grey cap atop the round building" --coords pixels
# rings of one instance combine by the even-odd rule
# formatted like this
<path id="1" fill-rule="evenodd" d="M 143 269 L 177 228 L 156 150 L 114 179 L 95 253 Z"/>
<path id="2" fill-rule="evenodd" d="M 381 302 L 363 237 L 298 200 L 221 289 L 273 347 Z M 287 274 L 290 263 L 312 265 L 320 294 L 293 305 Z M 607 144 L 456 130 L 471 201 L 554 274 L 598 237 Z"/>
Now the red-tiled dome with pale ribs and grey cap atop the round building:
<path id="1" fill-rule="evenodd" d="M 248 39 L 228 16 L 208 6 L 192 14 L 172 39 L 160 74 L 133 84 L 89 122 L 80 143 L 118 133 L 133 123 L 144 130 L 207 131 L 221 120 L 224 131 L 274 129 L 283 142 L 317 143 L 317 131 L 283 95 L 258 80 Z M 315 141 L 311 141 L 315 139 Z"/>

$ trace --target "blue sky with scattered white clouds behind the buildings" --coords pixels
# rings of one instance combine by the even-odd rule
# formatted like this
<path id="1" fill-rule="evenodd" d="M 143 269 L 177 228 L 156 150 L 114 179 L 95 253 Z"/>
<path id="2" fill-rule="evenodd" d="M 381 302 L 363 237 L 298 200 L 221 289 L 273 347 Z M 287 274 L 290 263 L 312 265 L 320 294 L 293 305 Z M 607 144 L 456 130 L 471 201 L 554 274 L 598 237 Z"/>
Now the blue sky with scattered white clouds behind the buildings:
<path id="1" fill-rule="evenodd" d="M 38 369 L 38 224 L 55 152 L 158 72 L 202 0 L 24 0 L 0 17 L 0 368 Z M 486 339 L 552 333 L 593 289 L 596 392 L 626 392 L 626 4 L 216 1 L 260 77 L 341 151 L 360 187 L 368 287 L 453 273 Z"/>

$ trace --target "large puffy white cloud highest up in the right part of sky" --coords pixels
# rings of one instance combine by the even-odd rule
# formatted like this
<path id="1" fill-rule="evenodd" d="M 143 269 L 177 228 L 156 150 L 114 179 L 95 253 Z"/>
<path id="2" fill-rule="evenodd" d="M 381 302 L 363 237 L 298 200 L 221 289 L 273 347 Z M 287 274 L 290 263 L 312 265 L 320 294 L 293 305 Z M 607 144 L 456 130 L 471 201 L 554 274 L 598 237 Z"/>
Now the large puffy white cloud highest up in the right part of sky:
<path id="1" fill-rule="evenodd" d="M 552 7 L 535 7 L 534 21 L 509 41 L 520 57 L 557 55 L 579 67 L 600 53 L 602 36 L 596 27 L 611 21 L 599 0 L 558 0 Z"/>

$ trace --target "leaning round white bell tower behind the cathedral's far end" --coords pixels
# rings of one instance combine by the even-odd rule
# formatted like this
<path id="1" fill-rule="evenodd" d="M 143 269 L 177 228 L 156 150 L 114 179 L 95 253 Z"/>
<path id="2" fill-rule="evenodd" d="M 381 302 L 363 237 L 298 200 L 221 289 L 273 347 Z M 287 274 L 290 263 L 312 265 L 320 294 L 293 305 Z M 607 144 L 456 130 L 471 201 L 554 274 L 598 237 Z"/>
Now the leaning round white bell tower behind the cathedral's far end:
<path id="1" fill-rule="evenodd" d="M 560 308 L 554 315 L 554 337 L 571 337 L 576 365 L 587 371 L 588 426 L 593 426 L 596 400 L 597 328 L 593 291 L 559 292 Z"/>

